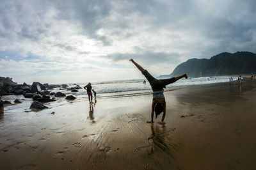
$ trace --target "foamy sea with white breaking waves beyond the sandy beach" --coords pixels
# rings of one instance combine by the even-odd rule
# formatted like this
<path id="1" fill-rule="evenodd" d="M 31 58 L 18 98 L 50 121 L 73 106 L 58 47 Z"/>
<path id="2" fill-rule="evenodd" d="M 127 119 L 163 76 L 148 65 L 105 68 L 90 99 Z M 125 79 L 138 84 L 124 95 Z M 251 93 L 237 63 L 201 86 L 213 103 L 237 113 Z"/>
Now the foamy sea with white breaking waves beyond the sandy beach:
<path id="1" fill-rule="evenodd" d="M 146 79 L 145 79 L 146 80 Z M 237 77 L 233 77 L 236 81 Z M 143 84 L 144 79 L 136 80 L 123 80 L 123 81 L 106 81 L 106 82 L 91 82 L 92 88 L 97 92 L 97 97 L 117 97 L 117 96 L 130 96 L 130 95 L 143 95 L 150 94 L 152 92 L 149 82 L 146 80 L 146 84 Z M 198 77 L 198 78 L 188 78 L 180 79 L 173 84 L 166 86 L 164 90 L 170 90 L 182 86 L 191 86 L 196 84 L 212 84 L 218 82 L 228 82 L 229 77 Z M 88 82 L 76 83 L 83 88 Z M 76 86 L 76 84 L 67 84 L 68 88 Z M 85 95 L 85 89 L 79 89 L 76 93 L 71 93 L 67 89 L 54 89 L 54 92 L 61 91 L 67 95 Z"/>

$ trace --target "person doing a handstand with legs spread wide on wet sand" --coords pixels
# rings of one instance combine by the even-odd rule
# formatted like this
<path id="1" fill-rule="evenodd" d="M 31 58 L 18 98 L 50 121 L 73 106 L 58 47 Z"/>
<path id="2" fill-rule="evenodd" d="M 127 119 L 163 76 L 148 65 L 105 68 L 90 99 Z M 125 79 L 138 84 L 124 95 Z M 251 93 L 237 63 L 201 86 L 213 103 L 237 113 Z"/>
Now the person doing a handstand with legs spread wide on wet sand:
<path id="1" fill-rule="evenodd" d="M 172 84 L 173 82 L 182 79 L 185 77 L 188 79 L 188 76 L 186 73 L 184 75 L 180 75 L 178 77 L 172 77 L 170 79 L 159 79 L 157 80 L 155 77 L 150 75 L 147 70 L 142 68 L 138 63 L 136 63 L 133 59 L 130 59 L 130 61 L 141 71 L 141 73 L 146 77 L 148 82 L 150 83 L 150 86 L 153 91 L 153 100 L 152 100 L 152 107 L 151 107 L 151 121 L 147 121 L 147 123 L 154 123 L 153 118 L 154 118 L 154 111 L 156 112 L 156 118 L 157 115 L 163 112 L 163 117 L 162 120 L 159 121 L 158 123 L 163 125 L 164 124 L 164 117 L 166 113 L 166 102 L 164 98 L 164 89 L 166 88 L 165 86 L 168 84 Z"/>

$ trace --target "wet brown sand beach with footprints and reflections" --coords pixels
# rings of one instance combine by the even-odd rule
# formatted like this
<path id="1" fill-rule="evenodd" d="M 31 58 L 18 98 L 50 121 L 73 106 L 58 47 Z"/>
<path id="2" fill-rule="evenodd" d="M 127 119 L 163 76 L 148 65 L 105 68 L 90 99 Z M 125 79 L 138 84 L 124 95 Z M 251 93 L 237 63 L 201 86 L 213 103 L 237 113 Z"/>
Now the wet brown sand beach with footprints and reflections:
<path id="1" fill-rule="evenodd" d="M 8 105 L 0 169 L 256 169 L 255 85 L 244 79 L 166 91 L 164 126 L 146 123 L 147 93 L 98 98 L 93 111 L 85 96 L 39 112 L 30 102 Z"/>

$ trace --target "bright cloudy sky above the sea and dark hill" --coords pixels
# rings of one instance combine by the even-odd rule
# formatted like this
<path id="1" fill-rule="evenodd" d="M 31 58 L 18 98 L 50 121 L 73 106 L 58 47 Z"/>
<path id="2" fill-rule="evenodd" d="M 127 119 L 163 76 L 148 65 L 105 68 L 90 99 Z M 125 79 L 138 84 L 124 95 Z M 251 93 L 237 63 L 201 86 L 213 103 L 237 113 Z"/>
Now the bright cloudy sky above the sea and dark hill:
<path id="1" fill-rule="evenodd" d="M 256 1 L 0 0 L 0 76 L 19 83 L 140 79 L 189 58 L 256 52 Z"/>

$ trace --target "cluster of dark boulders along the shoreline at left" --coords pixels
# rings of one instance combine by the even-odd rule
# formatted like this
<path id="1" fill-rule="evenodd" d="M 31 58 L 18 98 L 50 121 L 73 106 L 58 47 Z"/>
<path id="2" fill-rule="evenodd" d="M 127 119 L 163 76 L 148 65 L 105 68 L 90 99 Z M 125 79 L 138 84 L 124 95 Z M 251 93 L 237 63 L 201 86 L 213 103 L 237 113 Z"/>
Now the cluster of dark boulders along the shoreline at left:
<path id="1" fill-rule="evenodd" d="M 33 110 L 42 110 L 47 109 L 48 107 L 43 105 L 45 102 L 54 102 L 56 97 L 66 97 L 65 93 L 61 92 L 51 92 L 51 89 L 60 88 L 67 89 L 72 92 L 77 92 L 77 89 L 81 89 L 79 85 L 68 88 L 67 84 L 55 85 L 55 84 L 42 84 L 40 82 L 33 82 L 32 85 L 26 84 L 15 84 L 15 83 L 3 83 L 3 86 L 0 86 L 0 96 L 3 95 L 23 95 L 24 98 L 31 98 L 33 100 L 30 109 Z M 76 97 L 69 95 L 65 99 L 74 100 Z M 15 104 L 22 103 L 21 99 L 16 99 L 13 101 Z M 0 109 L 4 104 L 11 104 L 9 101 L 0 100 Z"/>

